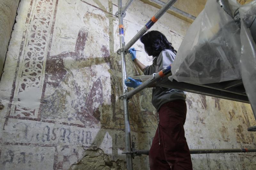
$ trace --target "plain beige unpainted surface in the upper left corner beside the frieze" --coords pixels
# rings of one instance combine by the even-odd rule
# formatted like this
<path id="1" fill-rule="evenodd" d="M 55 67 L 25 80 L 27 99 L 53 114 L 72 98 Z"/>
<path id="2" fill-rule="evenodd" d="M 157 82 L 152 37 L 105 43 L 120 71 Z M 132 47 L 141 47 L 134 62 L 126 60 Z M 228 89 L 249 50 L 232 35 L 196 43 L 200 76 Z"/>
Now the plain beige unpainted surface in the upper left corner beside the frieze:
<path id="1" fill-rule="evenodd" d="M 19 0 L 0 1 L 0 77 L 3 71 L 7 47 L 12 33 Z"/>

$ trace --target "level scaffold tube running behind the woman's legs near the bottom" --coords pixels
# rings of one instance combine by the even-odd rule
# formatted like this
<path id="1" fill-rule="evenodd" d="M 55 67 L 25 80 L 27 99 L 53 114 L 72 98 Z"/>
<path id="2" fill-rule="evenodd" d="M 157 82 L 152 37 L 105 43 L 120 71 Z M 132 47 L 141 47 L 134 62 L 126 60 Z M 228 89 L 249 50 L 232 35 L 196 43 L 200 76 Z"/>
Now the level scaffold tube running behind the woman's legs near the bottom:
<path id="1" fill-rule="evenodd" d="M 148 150 L 136 150 L 136 155 L 148 155 Z M 190 149 L 190 154 L 205 154 L 205 153 L 241 153 L 241 152 L 256 152 L 256 148 L 247 149 Z"/>

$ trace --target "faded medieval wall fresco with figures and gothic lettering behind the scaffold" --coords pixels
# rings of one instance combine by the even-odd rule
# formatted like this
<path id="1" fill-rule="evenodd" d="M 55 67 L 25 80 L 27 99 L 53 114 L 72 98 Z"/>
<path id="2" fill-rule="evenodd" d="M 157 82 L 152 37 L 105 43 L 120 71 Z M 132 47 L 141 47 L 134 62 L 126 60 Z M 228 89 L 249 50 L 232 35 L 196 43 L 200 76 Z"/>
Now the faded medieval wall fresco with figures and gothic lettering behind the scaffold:
<path id="1" fill-rule="evenodd" d="M 126 1 L 123 2 L 125 4 Z M 116 0 L 24 0 L 0 82 L 0 169 L 125 169 Z M 125 41 L 157 9 L 134 1 Z M 164 14 L 152 28 L 179 45 L 189 27 Z M 151 64 L 142 50 L 138 58 Z M 142 74 L 127 55 L 127 74 Z M 250 105 L 187 93 L 190 149 L 255 148 Z M 131 139 L 149 149 L 157 122 L 151 89 L 129 101 Z M 193 155 L 194 169 L 255 169 L 254 153 Z M 133 160 L 149 169 L 148 157 Z"/>

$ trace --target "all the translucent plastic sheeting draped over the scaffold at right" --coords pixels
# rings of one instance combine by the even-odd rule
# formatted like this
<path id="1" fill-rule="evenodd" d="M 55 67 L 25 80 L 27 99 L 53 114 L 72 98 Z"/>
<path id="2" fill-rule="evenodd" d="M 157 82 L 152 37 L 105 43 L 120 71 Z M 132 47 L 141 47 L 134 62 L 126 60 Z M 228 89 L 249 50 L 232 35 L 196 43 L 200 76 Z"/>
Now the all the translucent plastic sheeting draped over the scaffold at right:
<path id="1" fill-rule="evenodd" d="M 180 45 L 169 79 L 209 84 L 242 78 L 256 113 L 256 46 L 249 29 L 256 1 L 243 6 L 228 2 L 232 15 L 239 11 L 241 20 L 233 19 L 216 0 L 208 0 Z"/>

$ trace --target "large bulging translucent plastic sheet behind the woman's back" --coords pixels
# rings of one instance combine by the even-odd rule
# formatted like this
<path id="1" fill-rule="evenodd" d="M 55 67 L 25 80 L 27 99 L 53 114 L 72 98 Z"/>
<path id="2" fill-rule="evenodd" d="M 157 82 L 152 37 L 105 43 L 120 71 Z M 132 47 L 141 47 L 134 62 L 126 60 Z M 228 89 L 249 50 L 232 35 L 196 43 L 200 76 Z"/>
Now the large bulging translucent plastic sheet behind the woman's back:
<path id="1" fill-rule="evenodd" d="M 241 79 L 240 56 L 239 26 L 216 0 L 208 0 L 180 45 L 169 79 L 191 84 Z"/>

